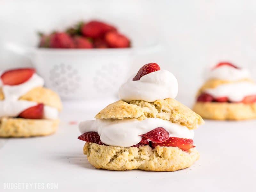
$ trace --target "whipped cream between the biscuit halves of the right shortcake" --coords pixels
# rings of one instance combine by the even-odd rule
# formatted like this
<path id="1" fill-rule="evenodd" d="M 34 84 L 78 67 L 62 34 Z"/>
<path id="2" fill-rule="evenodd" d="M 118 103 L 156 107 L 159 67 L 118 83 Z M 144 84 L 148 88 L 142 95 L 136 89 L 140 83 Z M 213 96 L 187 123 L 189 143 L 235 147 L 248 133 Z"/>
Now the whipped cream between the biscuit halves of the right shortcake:
<path id="1" fill-rule="evenodd" d="M 215 98 L 228 97 L 231 102 L 240 102 L 246 96 L 256 95 L 256 84 L 247 81 L 221 84 L 213 89 L 205 89 L 204 92 Z"/>

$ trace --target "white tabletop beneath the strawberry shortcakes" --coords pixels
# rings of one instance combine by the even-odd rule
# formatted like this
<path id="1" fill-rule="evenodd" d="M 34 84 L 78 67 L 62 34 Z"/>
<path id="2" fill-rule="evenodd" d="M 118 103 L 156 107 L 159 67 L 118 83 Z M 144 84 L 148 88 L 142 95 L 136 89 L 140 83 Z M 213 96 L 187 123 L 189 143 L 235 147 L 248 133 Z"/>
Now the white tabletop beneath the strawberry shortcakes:
<path id="1" fill-rule="evenodd" d="M 85 192 L 256 191 L 256 121 L 205 121 L 195 131 L 200 159 L 184 170 L 116 172 L 93 168 L 83 155 L 84 142 L 77 139 L 77 124 L 70 121 L 92 119 L 106 103 L 98 103 L 97 109 L 94 104 L 64 103 L 54 135 L 0 139 L 0 191 L 12 191 L 4 190 L 7 183 L 29 183 L 32 189 L 55 183 L 59 191 Z M 20 188 L 18 191 L 29 191 Z"/>

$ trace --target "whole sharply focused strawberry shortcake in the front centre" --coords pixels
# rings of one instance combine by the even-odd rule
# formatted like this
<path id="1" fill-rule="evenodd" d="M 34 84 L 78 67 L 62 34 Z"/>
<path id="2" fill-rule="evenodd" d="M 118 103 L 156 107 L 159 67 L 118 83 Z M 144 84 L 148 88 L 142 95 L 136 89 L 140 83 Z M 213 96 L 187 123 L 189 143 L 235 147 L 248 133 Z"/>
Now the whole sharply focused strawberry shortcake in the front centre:
<path id="1" fill-rule="evenodd" d="M 194 131 L 203 119 L 175 100 L 178 83 L 156 63 L 144 65 L 119 89 L 121 100 L 96 120 L 79 125 L 84 154 L 96 168 L 176 171 L 192 165 L 199 153 Z"/>

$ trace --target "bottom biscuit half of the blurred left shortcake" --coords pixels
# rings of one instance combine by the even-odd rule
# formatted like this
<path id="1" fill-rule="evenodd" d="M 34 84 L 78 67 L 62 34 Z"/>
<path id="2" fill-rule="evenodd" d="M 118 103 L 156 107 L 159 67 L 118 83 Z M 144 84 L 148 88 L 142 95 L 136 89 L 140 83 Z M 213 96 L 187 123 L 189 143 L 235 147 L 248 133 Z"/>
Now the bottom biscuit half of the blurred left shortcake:
<path id="1" fill-rule="evenodd" d="M 0 137 L 32 137 L 50 135 L 56 132 L 59 120 L 2 118 Z"/>

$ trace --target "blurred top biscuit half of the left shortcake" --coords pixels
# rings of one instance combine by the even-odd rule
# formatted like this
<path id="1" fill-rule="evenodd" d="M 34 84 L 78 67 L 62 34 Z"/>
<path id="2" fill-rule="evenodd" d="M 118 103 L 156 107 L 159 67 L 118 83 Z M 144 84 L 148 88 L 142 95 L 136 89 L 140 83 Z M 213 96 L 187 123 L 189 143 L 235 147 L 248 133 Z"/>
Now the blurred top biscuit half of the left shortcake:
<path id="1" fill-rule="evenodd" d="M 2 89 L 0 89 L 0 100 L 4 100 L 4 93 Z M 25 95 L 22 95 L 20 97 L 20 100 L 43 103 L 44 105 L 57 108 L 59 111 L 62 109 L 59 95 L 56 92 L 45 87 L 36 87 L 31 89 Z"/>

